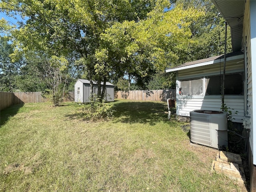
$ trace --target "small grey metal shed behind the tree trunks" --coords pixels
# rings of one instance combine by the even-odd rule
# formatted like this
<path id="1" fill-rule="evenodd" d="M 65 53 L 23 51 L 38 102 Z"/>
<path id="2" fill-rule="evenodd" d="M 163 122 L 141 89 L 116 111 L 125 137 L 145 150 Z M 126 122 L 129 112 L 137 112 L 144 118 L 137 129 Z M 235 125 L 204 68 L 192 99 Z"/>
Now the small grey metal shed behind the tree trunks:
<path id="1" fill-rule="evenodd" d="M 103 82 L 101 82 L 103 85 Z M 93 81 L 93 93 L 97 94 L 98 85 Z M 114 101 L 114 85 L 106 82 L 106 91 L 104 100 L 107 102 Z M 78 79 L 75 83 L 75 102 L 90 102 L 90 81 L 86 79 Z"/>

